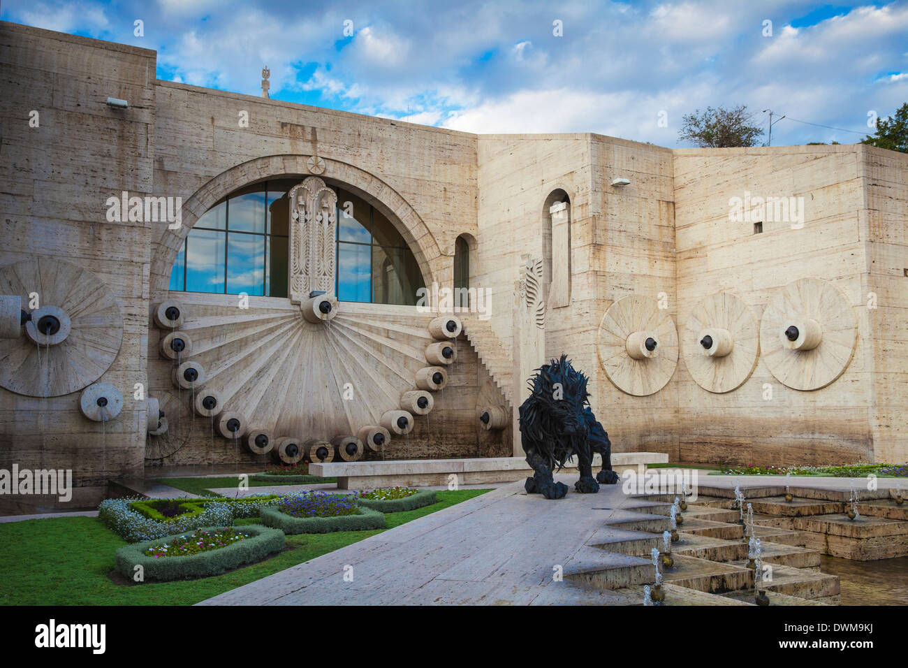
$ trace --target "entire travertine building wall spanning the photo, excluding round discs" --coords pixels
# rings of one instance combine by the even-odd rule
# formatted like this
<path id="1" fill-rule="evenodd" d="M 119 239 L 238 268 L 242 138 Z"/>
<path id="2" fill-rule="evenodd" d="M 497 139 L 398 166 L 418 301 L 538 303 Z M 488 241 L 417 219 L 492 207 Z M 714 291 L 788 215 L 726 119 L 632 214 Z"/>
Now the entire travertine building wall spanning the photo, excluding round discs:
<path id="1" fill-rule="evenodd" d="M 359 190 L 400 224 L 427 283 L 449 286 L 455 239 L 475 239 L 471 286 L 491 294 L 488 324 L 468 331 L 481 360 L 461 339 L 427 433 L 419 420 L 393 456 L 509 451 L 509 431 L 474 434 L 475 412 L 503 401 L 490 373 L 508 391 L 520 384 L 510 377 L 515 284 L 525 255 L 546 254 L 547 198 L 563 190 L 570 301 L 549 304 L 538 358 L 565 352 L 590 375 L 593 407 L 617 451 L 709 463 L 905 460 L 908 156 L 863 145 L 673 151 L 588 134 L 469 135 L 161 82 L 154 72 L 151 51 L 0 24 L 0 265 L 64 258 L 110 286 L 123 346 L 99 380 L 121 388 L 125 404 L 103 437 L 101 424 L 79 414 L 78 393 L 40 399 L 0 389 L 0 468 L 71 466 L 78 484 L 96 490 L 141 474 L 145 407 L 132 388 L 170 387 L 150 308 L 169 296 L 176 249 L 223 195 L 306 176 L 313 155 L 324 179 Z M 107 97 L 130 106 L 111 109 Z M 33 110 L 38 127 L 29 126 Z M 630 184 L 614 186 L 616 178 Z M 183 227 L 108 222 L 104 203 L 123 190 L 181 197 Z M 745 191 L 803 197 L 804 226 L 765 220 L 754 234 L 752 224 L 732 222 L 729 200 Z M 680 334 L 708 294 L 737 295 L 759 322 L 785 284 L 805 277 L 841 289 L 858 324 L 854 358 L 823 389 L 789 389 L 761 359 L 743 385 L 713 394 L 682 354 L 665 387 L 637 397 L 600 363 L 599 323 L 624 296 L 662 294 Z M 268 304 L 251 298 L 252 307 Z M 448 435 L 432 435 L 436 424 Z M 193 438 L 166 464 L 232 461 L 226 445 L 211 454 L 210 428 Z"/>

